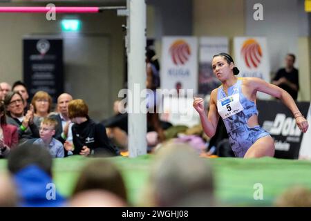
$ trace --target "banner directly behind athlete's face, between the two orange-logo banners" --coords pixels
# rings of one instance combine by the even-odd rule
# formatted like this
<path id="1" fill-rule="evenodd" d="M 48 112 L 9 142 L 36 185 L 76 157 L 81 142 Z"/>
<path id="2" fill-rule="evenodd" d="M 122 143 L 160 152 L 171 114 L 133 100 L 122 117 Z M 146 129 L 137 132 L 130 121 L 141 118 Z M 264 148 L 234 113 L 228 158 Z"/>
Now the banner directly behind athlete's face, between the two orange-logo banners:
<path id="1" fill-rule="evenodd" d="M 201 37 L 200 38 L 200 61 L 199 61 L 199 77 L 198 77 L 198 93 L 201 95 L 209 95 L 211 90 L 220 86 L 220 81 L 214 75 L 211 68 L 211 59 L 213 56 L 229 51 L 227 37 Z"/>

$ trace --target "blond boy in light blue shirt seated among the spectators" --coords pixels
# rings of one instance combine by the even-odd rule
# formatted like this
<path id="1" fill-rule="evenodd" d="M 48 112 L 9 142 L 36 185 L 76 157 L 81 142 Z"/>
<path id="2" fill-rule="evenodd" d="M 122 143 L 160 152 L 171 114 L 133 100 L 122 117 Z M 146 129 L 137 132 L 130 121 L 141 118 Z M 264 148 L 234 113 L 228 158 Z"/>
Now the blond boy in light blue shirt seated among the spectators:
<path id="1" fill-rule="evenodd" d="M 56 126 L 57 121 L 55 119 L 44 118 L 40 125 L 40 138 L 35 140 L 34 144 L 46 148 L 52 157 L 64 157 L 63 144 L 53 138 Z"/>

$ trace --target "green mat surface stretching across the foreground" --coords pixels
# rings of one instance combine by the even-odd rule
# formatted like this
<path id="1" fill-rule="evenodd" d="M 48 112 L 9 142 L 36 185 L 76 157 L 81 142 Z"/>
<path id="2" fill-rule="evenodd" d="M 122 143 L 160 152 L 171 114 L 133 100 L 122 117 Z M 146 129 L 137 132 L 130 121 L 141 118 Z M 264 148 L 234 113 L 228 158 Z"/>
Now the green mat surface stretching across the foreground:
<path id="1" fill-rule="evenodd" d="M 91 160 L 81 156 L 53 161 L 53 175 L 57 190 L 69 197 L 82 166 Z M 112 157 L 122 171 L 131 204 L 138 205 L 142 191 L 148 185 L 153 155 L 136 158 Z M 260 159 L 211 158 L 216 186 L 216 199 L 222 206 L 272 206 L 278 195 L 294 185 L 311 189 L 311 162 L 305 160 L 281 160 L 272 157 Z M 187 163 L 187 162 L 185 162 Z M 0 171 L 6 170 L 6 160 L 0 160 Z M 263 190 L 263 200 L 254 200 Z"/>

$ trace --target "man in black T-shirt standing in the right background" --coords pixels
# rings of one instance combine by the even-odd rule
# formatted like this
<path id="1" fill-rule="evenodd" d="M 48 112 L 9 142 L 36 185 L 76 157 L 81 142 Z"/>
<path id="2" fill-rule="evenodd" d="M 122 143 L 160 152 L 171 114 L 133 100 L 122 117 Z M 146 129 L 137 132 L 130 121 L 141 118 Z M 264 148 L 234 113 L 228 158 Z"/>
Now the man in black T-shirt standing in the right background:
<path id="1" fill-rule="evenodd" d="M 299 91 L 299 72 L 294 68 L 296 56 L 288 54 L 285 57 L 285 68 L 277 71 L 272 84 L 286 90 L 293 99 L 297 99 Z"/>

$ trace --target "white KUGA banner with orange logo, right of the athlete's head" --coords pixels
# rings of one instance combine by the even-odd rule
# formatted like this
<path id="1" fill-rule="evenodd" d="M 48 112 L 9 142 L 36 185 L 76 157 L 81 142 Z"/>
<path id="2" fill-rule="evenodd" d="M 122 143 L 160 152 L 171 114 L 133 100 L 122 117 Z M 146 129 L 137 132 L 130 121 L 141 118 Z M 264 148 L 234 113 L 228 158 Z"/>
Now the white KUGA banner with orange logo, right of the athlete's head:
<path id="1" fill-rule="evenodd" d="M 259 77 L 270 82 L 270 62 L 265 37 L 235 37 L 234 62 L 240 73 L 238 77 Z M 258 93 L 261 99 L 270 95 Z"/>

